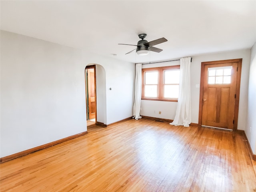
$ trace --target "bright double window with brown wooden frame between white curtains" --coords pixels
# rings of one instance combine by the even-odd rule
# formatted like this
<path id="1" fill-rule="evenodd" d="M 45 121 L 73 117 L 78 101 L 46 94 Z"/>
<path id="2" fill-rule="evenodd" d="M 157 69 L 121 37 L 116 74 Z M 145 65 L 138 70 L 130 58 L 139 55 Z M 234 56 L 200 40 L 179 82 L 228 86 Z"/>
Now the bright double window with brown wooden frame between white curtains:
<path id="1" fill-rule="evenodd" d="M 142 99 L 178 101 L 180 66 L 142 69 Z"/>

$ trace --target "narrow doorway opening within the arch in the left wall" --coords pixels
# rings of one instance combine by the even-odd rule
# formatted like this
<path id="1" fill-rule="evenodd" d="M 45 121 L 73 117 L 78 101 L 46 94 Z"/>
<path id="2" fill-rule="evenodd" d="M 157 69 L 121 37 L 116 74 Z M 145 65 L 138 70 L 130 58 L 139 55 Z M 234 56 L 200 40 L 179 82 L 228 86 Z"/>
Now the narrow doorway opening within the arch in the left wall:
<path id="1" fill-rule="evenodd" d="M 96 65 L 85 68 L 86 120 L 87 126 L 97 123 Z"/>

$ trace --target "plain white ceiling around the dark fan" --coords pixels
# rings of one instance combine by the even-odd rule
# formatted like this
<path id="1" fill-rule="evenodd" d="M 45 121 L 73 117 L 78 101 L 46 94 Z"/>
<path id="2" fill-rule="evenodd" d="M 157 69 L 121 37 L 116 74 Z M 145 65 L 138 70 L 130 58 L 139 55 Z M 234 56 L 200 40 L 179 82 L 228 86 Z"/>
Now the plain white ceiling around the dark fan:
<path id="1" fill-rule="evenodd" d="M 1 30 L 89 50 L 128 62 L 164 61 L 249 49 L 256 41 L 256 1 L 0 1 Z M 162 52 L 127 54 L 166 38 Z M 116 54 L 114 56 L 113 54 Z"/>

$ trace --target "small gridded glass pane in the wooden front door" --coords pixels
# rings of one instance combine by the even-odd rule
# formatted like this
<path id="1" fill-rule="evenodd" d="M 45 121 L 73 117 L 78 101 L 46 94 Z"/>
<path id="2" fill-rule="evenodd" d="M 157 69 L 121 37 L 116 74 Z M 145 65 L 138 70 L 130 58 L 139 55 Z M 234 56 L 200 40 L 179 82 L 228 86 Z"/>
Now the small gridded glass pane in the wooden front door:
<path id="1" fill-rule="evenodd" d="M 208 84 L 230 84 L 232 66 L 208 68 Z"/>

